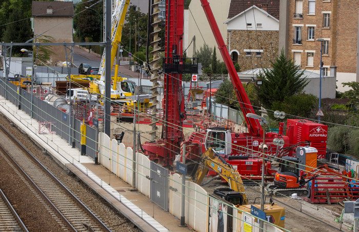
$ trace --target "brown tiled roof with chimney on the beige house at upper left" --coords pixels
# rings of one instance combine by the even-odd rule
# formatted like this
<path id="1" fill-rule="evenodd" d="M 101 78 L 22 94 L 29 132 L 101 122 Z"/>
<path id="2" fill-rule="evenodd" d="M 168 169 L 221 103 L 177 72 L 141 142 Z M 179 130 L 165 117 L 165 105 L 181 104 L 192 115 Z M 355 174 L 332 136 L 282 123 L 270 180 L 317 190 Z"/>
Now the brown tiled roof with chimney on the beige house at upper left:
<path id="1" fill-rule="evenodd" d="M 49 9 L 49 10 L 48 10 Z M 51 12 L 52 9 L 52 13 Z M 72 2 L 39 2 L 32 1 L 32 16 L 74 16 Z"/>

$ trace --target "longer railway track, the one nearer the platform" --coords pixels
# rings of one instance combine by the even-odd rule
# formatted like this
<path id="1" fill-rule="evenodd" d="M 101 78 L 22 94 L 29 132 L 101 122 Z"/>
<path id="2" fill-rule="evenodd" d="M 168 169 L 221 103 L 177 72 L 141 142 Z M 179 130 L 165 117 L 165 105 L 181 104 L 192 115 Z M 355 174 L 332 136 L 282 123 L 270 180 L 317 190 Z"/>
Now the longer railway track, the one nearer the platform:
<path id="1" fill-rule="evenodd" d="M 62 231 L 111 231 L 1 125 L 0 137 L 1 156 L 31 189 Z"/>

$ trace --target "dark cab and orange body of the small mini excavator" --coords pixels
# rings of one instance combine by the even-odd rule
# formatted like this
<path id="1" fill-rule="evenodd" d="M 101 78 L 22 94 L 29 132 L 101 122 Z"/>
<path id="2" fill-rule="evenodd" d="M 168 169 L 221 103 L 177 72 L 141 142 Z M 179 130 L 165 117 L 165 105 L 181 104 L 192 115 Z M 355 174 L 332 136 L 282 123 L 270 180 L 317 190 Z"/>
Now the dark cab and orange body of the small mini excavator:
<path id="1" fill-rule="evenodd" d="M 278 188 L 299 187 L 300 169 L 298 159 L 295 157 L 283 157 L 280 169 L 275 174 L 274 186 Z"/>

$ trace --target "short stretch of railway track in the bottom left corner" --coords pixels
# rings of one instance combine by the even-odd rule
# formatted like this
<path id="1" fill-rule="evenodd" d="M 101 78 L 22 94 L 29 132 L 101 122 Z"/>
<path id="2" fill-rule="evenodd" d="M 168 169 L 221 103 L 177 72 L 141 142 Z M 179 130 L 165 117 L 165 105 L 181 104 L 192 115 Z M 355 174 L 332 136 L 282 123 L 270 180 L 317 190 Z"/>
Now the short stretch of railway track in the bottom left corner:
<path id="1" fill-rule="evenodd" d="M 0 231 L 28 231 L 0 189 Z"/>

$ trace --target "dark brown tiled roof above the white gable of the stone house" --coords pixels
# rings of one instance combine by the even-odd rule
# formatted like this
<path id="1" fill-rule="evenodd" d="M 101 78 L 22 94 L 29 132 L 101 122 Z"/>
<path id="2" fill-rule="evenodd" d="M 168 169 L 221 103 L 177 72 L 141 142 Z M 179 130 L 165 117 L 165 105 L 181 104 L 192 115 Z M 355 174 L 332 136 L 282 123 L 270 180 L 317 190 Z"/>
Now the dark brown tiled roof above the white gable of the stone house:
<path id="1" fill-rule="evenodd" d="M 228 11 L 228 18 L 247 10 L 251 6 L 257 6 L 267 11 L 270 15 L 279 20 L 279 0 L 231 0 Z M 268 6 L 267 6 L 268 5 Z"/>

